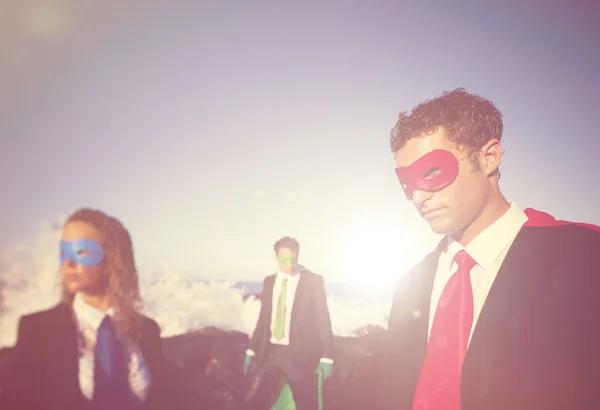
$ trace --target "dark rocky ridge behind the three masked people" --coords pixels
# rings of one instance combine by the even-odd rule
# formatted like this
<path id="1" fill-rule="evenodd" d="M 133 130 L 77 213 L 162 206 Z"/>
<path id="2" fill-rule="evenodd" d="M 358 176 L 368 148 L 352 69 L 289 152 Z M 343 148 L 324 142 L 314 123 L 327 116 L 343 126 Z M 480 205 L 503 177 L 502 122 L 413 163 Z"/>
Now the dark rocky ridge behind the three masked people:
<path id="1" fill-rule="evenodd" d="M 384 357 L 385 330 L 367 326 L 354 337 L 337 337 L 335 371 L 323 388 L 327 410 L 381 408 L 379 375 Z M 242 374 L 248 336 L 216 328 L 163 339 L 165 375 L 169 384 L 168 410 L 235 410 L 246 378 Z M 0 350 L 2 386 L 11 373 L 11 351 Z"/>

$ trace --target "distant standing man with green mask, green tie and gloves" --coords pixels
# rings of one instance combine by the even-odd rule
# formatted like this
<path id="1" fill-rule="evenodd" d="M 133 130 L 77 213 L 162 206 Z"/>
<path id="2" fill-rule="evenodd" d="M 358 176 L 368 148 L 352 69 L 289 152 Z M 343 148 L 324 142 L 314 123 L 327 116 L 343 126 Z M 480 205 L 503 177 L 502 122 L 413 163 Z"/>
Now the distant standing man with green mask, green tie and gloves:
<path id="1" fill-rule="evenodd" d="M 270 409 L 285 379 L 296 409 L 316 410 L 317 374 L 322 372 L 326 380 L 333 373 L 333 331 L 323 277 L 298 264 L 300 245 L 295 239 L 281 238 L 274 251 L 279 269 L 264 280 L 244 361 L 250 377 L 245 408 Z"/>

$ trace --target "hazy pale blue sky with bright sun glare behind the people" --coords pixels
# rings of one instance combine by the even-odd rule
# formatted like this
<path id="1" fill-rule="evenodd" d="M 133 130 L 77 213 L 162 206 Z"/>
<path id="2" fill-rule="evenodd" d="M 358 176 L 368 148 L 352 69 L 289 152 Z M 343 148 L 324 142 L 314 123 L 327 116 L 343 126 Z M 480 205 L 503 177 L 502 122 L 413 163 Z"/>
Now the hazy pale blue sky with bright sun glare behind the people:
<path id="1" fill-rule="evenodd" d="M 258 279 L 291 235 L 331 280 L 392 281 L 437 238 L 389 131 L 461 86 L 504 115 L 509 199 L 600 224 L 593 2 L 80 3 L 2 6 L 2 246 L 91 206 L 145 269 Z"/>

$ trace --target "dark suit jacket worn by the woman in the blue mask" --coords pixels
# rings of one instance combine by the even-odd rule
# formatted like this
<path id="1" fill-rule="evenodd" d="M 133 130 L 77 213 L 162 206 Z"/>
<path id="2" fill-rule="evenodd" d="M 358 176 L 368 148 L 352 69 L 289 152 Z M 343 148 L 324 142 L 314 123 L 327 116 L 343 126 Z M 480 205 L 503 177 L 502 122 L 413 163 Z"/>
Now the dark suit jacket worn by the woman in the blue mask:
<path id="1" fill-rule="evenodd" d="M 49 310 L 23 316 L 15 346 L 14 374 L 3 404 L 19 410 L 80 410 L 77 330 L 71 308 L 60 303 Z M 150 370 L 152 390 L 146 409 L 162 409 L 162 347 L 156 322 L 143 317 L 139 344 Z"/>

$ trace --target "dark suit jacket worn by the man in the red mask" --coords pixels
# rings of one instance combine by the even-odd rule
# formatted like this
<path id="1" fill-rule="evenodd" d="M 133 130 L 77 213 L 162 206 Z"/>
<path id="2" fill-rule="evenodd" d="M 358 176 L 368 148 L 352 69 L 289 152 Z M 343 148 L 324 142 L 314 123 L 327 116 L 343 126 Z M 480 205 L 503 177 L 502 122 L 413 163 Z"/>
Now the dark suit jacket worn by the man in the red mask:
<path id="1" fill-rule="evenodd" d="M 442 246 L 404 276 L 389 318 L 385 409 L 410 410 Z M 600 409 L 600 232 L 524 227 L 463 364 L 461 410 Z"/>

